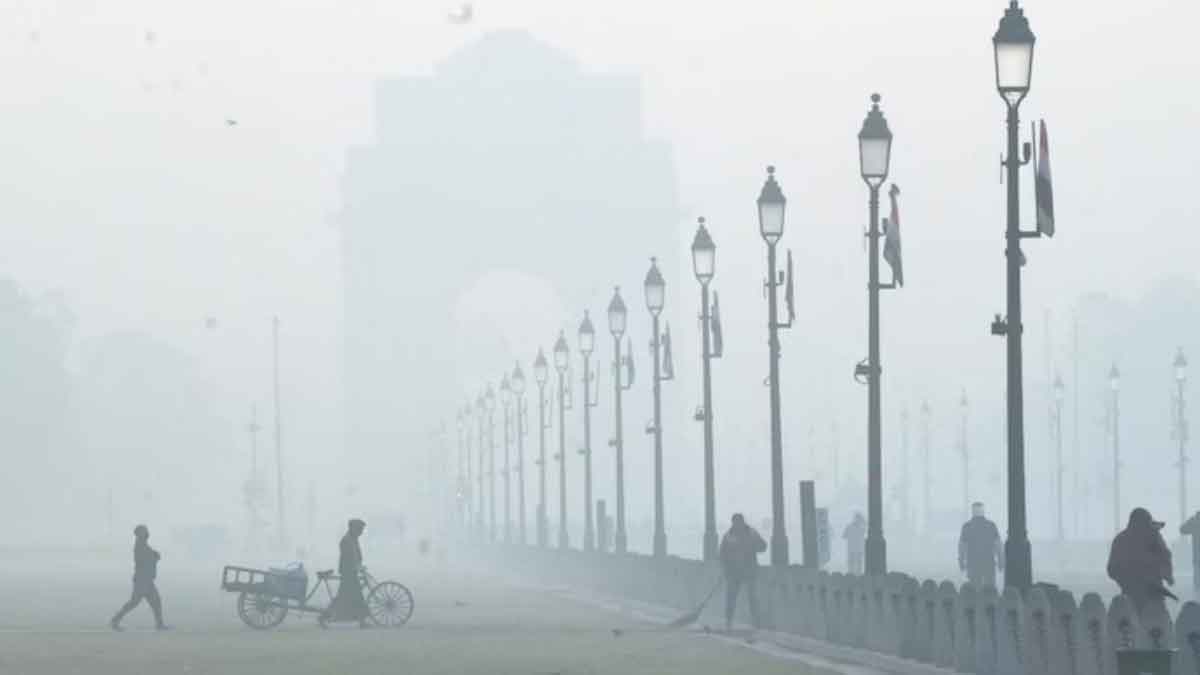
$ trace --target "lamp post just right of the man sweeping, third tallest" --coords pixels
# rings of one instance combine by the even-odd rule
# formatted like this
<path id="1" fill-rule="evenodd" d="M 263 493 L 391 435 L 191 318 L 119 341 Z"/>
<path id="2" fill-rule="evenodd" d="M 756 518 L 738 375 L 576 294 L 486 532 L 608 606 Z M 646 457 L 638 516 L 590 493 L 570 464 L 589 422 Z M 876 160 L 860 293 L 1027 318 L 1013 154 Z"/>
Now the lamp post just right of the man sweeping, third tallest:
<path id="1" fill-rule="evenodd" d="M 769 353 L 770 384 L 770 563 L 787 567 L 787 530 L 784 524 L 784 436 L 779 404 L 779 329 L 791 328 L 794 307 L 788 301 L 787 323 L 779 321 L 779 287 L 775 271 L 775 245 L 784 237 L 787 199 L 775 181 L 775 167 L 767 167 L 767 181 L 758 193 L 758 233 L 767 243 L 767 351 Z M 792 279 L 788 265 L 787 300 L 791 300 Z"/>

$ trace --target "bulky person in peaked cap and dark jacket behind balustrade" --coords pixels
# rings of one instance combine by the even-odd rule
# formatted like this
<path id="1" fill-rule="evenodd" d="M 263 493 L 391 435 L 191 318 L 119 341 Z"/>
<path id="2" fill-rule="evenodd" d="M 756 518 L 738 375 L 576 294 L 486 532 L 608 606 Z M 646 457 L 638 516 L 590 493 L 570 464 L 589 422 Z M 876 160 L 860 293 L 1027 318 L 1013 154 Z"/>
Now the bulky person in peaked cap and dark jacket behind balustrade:
<path id="1" fill-rule="evenodd" d="M 1109 577 L 1121 586 L 1139 615 L 1153 605 L 1166 611 L 1165 598 L 1175 595 L 1163 586 L 1175 585 L 1171 550 L 1159 530 L 1163 524 L 1138 507 L 1129 512 L 1129 524 L 1112 539 L 1109 550 Z M 1177 598 L 1176 598 L 1177 599 Z"/>

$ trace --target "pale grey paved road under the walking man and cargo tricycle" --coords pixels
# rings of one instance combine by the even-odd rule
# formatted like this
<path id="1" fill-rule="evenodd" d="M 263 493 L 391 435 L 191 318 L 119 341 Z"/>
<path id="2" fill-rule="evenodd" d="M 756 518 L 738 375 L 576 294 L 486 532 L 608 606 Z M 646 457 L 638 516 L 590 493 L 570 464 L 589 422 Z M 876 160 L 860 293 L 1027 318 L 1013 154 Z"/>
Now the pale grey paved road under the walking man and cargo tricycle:
<path id="1" fill-rule="evenodd" d="M 367 675 L 367 674 L 814 674 L 781 655 L 698 632 L 653 623 L 534 591 L 479 573 L 376 569 L 398 578 L 416 613 L 398 631 L 322 631 L 311 616 L 289 616 L 272 632 L 245 628 L 234 597 L 217 590 L 217 571 L 182 575 L 163 566 L 169 633 L 150 629 L 145 607 L 112 633 L 106 621 L 128 592 L 127 569 L 73 561 L 10 568 L 0 609 L 4 675 Z M 619 634 L 614 634 L 614 629 Z"/>

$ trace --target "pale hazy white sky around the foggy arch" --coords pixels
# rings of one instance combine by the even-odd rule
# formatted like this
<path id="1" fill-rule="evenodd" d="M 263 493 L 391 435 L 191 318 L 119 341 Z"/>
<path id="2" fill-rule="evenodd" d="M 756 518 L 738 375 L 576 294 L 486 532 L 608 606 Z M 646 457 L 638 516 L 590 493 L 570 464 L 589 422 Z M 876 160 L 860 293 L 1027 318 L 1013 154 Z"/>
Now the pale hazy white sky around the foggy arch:
<path id="1" fill-rule="evenodd" d="M 760 295 L 754 198 L 764 165 L 779 166 L 803 324 L 784 348 L 833 345 L 788 363 L 823 380 L 808 388 L 811 410 L 829 387 L 856 414 L 865 399 L 846 377 L 865 352 L 854 135 L 880 91 L 910 282 L 884 298 L 889 401 L 948 407 L 956 384 L 923 384 L 938 368 L 994 383 L 980 405 L 998 413 L 1003 352 L 986 329 L 1003 306 L 1003 107 L 990 37 L 1006 4 L 485 0 L 463 28 L 445 20 L 451 4 L 427 0 L 6 0 L 0 274 L 62 289 L 82 336 L 132 327 L 202 358 L 220 340 L 208 356 L 246 408 L 268 402 L 278 313 L 286 360 L 305 365 L 288 375 L 292 414 L 332 420 L 298 434 L 317 455 L 337 438 L 337 178 L 346 148 L 371 137 L 373 83 L 522 28 L 586 70 L 640 73 L 649 133 L 674 150 L 680 251 L 708 216 L 733 324 L 761 325 L 758 304 L 732 298 Z M 1195 280 L 1200 56 L 1187 46 L 1200 8 L 1025 6 L 1038 46 L 1022 117 L 1049 124 L 1060 223 L 1052 241 L 1026 243 L 1027 316 L 1062 316 L 1087 291 Z M 692 280 L 672 282 L 694 297 Z M 1031 325 L 1031 342 L 1043 330 Z M 1030 363 L 1032 380 L 1042 357 Z"/>

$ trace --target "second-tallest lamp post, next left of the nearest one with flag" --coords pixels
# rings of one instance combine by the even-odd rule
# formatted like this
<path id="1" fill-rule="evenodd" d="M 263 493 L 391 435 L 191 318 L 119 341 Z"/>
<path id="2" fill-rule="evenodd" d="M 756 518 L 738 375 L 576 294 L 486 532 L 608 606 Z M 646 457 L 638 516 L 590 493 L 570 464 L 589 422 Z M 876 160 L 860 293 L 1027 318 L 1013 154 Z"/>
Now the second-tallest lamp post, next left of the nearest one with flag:
<path id="1" fill-rule="evenodd" d="M 880 283 L 880 187 L 888 178 L 892 159 L 892 131 L 880 110 L 880 95 L 871 95 L 871 109 L 858 132 L 858 161 L 863 181 L 870 190 L 868 239 L 868 357 L 866 372 L 866 573 L 887 574 L 888 552 L 883 538 L 883 420 L 880 388 L 880 291 L 895 288 L 895 281 Z"/>

